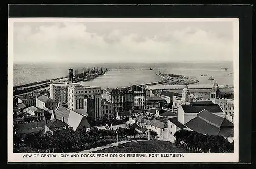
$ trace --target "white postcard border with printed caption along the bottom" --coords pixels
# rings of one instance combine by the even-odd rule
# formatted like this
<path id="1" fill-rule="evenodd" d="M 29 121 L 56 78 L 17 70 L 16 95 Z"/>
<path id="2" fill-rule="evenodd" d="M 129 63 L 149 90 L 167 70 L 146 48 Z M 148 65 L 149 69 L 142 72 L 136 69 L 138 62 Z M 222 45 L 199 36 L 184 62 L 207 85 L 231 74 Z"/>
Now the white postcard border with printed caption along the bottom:
<path id="1" fill-rule="evenodd" d="M 98 157 L 84 158 L 82 154 L 88 153 L 54 153 L 79 154 L 80 157 L 40 157 L 45 153 L 13 153 L 13 24 L 14 22 L 233 22 L 234 32 L 234 153 L 156 153 L 156 154 L 182 154 L 183 157 L 148 157 L 152 153 L 144 153 L 146 158 L 131 157 Z M 8 141 L 7 159 L 8 162 L 238 162 L 239 155 L 239 19 L 238 18 L 9 18 L 8 19 Z M 10 133 L 10 134 L 9 134 Z M 24 158 L 22 155 L 31 154 L 31 158 Z M 37 156 L 39 157 L 33 157 Z M 49 154 L 49 153 L 47 153 Z M 91 154 L 91 153 L 89 153 Z M 95 153 L 96 154 L 96 153 Z M 101 153 L 112 154 L 112 153 Z M 143 153 L 117 153 L 117 154 L 143 154 Z M 109 155 L 110 156 L 110 155 Z"/>

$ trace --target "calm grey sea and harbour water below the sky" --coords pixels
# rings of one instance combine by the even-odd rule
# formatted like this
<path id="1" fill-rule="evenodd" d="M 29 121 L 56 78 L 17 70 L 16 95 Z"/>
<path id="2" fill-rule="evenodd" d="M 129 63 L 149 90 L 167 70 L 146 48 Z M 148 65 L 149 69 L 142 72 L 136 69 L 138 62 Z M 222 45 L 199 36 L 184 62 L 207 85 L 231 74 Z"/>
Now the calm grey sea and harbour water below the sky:
<path id="1" fill-rule="evenodd" d="M 126 87 L 136 84 L 151 83 L 162 80 L 156 73 L 178 74 L 196 78 L 196 84 L 211 84 L 212 76 L 218 84 L 233 85 L 233 62 L 176 62 L 176 63 L 15 63 L 14 85 L 22 85 L 42 80 L 54 79 L 68 75 L 68 69 L 83 72 L 83 68 L 131 68 L 109 70 L 105 75 L 82 82 L 104 88 Z M 134 69 L 137 68 L 137 69 Z M 143 70 L 138 70 L 143 68 Z M 152 68 L 153 70 L 150 70 Z M 227 71 L 222 68 L 228 68 Z M 201 76 L 206 75 L 206 76 Z"/>

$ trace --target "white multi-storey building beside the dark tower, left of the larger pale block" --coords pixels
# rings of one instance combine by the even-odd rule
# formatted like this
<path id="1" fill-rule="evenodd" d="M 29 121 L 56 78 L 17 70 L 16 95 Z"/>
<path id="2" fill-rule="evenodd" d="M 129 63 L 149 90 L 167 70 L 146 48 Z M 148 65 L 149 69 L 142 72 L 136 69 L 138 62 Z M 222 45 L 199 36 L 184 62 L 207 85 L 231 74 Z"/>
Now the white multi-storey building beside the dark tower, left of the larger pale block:
<path id="1" fill-rule="evenodd" d="M 61 105 L 67 105 L 68 103 L 68 87 L 71 86 L 71 82 L 65 83 L 51 83 L 50 84 L 50 98 Z"/>

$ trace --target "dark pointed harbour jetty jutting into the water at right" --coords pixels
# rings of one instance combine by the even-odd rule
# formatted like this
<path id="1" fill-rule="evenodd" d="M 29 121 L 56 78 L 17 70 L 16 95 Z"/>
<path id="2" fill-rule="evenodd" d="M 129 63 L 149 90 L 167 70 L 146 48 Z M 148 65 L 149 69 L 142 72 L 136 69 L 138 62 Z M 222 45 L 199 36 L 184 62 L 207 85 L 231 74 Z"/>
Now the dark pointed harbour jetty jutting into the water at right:
<path id="1" fill-rule="evenodd" d="M 163 74 L 163 73 L 156 73 L 158 76 L 162 78 L 162 80 L 167 85 L 189 85 L 199 82 L 195 78 L 183 76 L 183 75 L 176 75 L 176 74 Z"/>

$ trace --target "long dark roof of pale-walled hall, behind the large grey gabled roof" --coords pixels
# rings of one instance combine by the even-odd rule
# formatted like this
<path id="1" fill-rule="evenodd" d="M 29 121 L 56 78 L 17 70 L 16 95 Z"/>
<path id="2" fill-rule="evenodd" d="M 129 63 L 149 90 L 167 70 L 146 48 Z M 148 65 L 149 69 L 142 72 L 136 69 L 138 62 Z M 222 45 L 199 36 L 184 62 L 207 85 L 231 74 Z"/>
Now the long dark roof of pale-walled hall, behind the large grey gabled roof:
<path id="1" fill-rule="evenodd" d="M 220 106 L 218 104 L 213 105 L 200 105 L 200 106 L 193 106 L 193 105 L 181 105 L 185 113 L 199 113 L 202 110 L 207 110 L 212 113 L 219 113 L 222 112 Z"/>

